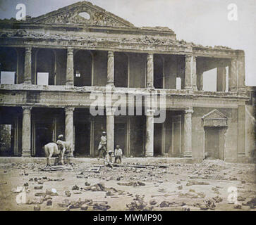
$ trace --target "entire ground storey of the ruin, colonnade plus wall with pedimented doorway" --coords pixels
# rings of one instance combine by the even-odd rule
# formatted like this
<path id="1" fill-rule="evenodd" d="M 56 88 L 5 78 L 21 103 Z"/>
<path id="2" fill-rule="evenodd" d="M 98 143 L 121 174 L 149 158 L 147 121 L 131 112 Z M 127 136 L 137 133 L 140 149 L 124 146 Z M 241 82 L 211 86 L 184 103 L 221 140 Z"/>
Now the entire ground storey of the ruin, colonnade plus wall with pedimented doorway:
<path id="1" fill-rule="evenodd" d="M 245 150 L 235 149 L 236 154 L 229 150 L 241 140 L 235 139 L 234 134 L 238 122 L 228 122 L 228 117 L 218 110 L 166 110 L 162 123 L 154 123 L 154 115 L 143 110 L 142 115 L 115 116 L 104 110 L 104 115 L 92 116 L 89 108 L 1 107 L 0 155 L 44 157 L 42 147 L 63 134 L 66 141 L 73 143 L 69 157 L 97 158 L 100 137 L 106 131 L 107 149 L 114 150 L 119 145 L 126 158 L 212 158 L 235 162 L 239 156 L 246 156 Z M 237 110 L 230 112 L 232 116 Z M 228 110 L 225 113 L 228 115 Z"/>

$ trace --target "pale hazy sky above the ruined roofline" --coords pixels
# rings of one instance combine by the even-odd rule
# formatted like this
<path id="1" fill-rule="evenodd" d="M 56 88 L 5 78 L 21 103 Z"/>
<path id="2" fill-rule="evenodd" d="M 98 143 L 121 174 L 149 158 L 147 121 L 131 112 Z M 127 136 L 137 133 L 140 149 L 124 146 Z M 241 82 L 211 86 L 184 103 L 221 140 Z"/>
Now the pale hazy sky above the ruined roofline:
<path id="1" fill-rule="evenodd" d="M 16 5 L 27 6 L 33 17 L 78 0 L 0 0 L 0 18 L 15 18 Z M 256 86 L 255 0 L 88 0 L 136 27 L 169 27 L 177 39 L 197 44 L 228 46 L 245 51 L 245 84 Z M 238 20 L 228 20 L 228 4 L 238 7 Z"/>

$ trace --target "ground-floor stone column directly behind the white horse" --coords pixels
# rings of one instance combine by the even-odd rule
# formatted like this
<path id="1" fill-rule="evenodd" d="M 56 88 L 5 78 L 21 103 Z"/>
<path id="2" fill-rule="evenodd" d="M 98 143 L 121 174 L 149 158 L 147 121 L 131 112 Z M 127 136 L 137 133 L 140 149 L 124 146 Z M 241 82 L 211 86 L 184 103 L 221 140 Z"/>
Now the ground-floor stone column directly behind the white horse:
<path id="1" fill-rule="evenodd" d="M 73 158 L 73 111 L 75 108 L 65 108 L 65 141 L 70 141 L 71 152 L 66 151 L 66 156 Z"/>

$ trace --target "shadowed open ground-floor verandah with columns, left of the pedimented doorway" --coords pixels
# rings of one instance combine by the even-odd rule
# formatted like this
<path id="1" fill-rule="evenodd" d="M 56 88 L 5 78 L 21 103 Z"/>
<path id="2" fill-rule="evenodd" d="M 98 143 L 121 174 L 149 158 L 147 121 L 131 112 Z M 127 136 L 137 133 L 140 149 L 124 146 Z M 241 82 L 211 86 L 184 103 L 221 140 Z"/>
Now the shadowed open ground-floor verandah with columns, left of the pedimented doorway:
<path id="1" fill-rule="evenodd" d="M 182 157 L 183 114 L 167 111 L 166 120 L 154 124 L 153 115 L 94 117 L 89 108 L 2 107 L 1 136 L 6 143 L 1 144 L 1 156 L 44 156 L 42 146 L 64 134 L 73 141 L 75 157 L 96 157 L 102 131 L 106 131 L 108 143 L 112 142 L 112 148 L 121 146 L 126 157 Z"/>

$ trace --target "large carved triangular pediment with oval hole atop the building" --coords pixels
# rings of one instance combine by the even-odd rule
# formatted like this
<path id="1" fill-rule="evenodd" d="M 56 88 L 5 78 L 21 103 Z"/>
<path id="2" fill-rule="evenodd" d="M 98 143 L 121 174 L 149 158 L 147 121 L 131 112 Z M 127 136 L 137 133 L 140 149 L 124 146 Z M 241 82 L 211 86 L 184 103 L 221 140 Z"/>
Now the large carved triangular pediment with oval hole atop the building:
<path id="1" fill-rule="evenodd" d="M 33 23 L 42 24 L 71 24 L 95 25 L 104 27 L 134 27 L 126 20 L 105 11 L 103 8 L 92 5 L 88 1 L 59 8 L 56 11 L 32 18 Z"/>

